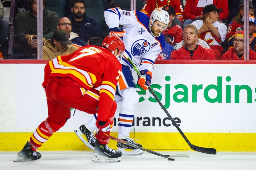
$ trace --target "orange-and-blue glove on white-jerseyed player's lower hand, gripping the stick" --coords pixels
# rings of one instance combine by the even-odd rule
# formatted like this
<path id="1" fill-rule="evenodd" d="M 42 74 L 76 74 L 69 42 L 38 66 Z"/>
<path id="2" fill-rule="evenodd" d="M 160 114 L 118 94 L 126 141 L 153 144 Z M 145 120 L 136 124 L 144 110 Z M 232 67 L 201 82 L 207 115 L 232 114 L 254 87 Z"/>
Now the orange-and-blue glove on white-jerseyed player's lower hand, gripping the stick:
<path id="1" fill-rule="evenodd" d="M 148 70 L 141 70 L 140 74 L 142 76 L 138 74 L 139 79 L 137 83 L 142 89 L 147 90 L 151 84 L 152 73 Z"/>

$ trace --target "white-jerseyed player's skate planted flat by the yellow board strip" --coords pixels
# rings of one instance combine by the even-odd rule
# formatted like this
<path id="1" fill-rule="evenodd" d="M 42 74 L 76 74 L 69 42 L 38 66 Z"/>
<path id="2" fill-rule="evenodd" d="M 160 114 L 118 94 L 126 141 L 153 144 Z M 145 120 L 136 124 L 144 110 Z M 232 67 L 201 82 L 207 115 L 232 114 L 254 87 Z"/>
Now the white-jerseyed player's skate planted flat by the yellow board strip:
<path id="1" fill-rule="evenodd" d="M 122 140 L 132 145 L 137 145 L 142 147 L 142 145 L 134 142 L 131 138 L 126 138 Z M 140 149 L 136 149 L 132 146 L 125 145 L 124 143 L 117 142 L 116 146 L 117 146 L 117 150 L 121 151 L 124 155 L 141 155 L 143 153 Z M 132 151 L 125 151 L 125 149 L 131 149 Z"/>

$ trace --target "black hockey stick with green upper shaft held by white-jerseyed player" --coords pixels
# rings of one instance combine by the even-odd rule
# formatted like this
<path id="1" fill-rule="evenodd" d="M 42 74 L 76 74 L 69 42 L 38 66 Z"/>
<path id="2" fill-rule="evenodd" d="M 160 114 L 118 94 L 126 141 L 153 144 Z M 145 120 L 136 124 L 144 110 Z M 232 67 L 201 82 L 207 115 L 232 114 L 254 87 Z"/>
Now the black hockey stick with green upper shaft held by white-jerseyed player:
<path id="1" fill-rule="evenodd" d="M 132 60 L 127 57 L 126 58 L 128 60 L 128 62 L 132 65 L 133 69 L 136 71 L 137 74 L 140 74 L 140 71 L 138 70 L 138 68 L 133 64 Z M 197 152 L 202 152 L 202 153 L 207 153 L 207 154 L 213 154 L 215 155 L 217 153 L 216 149 L 214 148 L 205 148 L 205 147 L 200 147 L 200 146 L 196 146 L 193 145 L 189 142 L 188 138 L 185 136 L 185 134 L 181 131 L 180 127 L 178 126 L 178 124 L 176 124 L 176 122 L 173 120 L 172 116 L 170 115 L 170 113 L 166 110 L 166 108 L 164 107 L 164 105 L 161 103 L 161 101 L 159 100 L 159 98 L 156 96 L 156 93 L 151 89 L 150 86 L 148 86 L 148 90 L 149 92 L 155 97 L 157 103 L 161 106 L 161 108 L 164 110 L 164 112 L 166 113 L 166 115 L 170 118 L 170 120 L 172 121 L 172 124 L 177 128 L 177 130 L 180 132 L 181 136 L 185 139 L 185 141 L 188 143 L 189 147 L 191 149 L 193 149 L 194 151 Z"/>

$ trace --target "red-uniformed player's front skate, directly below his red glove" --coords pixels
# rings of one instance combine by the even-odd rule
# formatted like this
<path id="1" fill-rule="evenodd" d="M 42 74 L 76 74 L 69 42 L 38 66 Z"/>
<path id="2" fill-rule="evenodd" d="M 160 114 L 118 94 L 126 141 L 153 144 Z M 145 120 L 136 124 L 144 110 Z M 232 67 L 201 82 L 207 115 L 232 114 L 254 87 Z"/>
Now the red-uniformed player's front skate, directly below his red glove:
<path id="1" fill-rule="evenodd" d="M 120 162 L 122 152 L 111 149 L 107 144 L 95 143 L 93 162 Z"/>

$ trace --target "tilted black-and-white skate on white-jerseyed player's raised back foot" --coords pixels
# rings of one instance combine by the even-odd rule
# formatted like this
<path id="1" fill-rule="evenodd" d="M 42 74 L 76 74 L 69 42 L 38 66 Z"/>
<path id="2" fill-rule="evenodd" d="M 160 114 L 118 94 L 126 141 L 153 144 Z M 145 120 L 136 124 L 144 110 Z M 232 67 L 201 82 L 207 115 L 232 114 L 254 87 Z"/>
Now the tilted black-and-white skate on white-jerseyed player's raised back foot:
<path id="1" fill-rule="evenodd" d="M 93 131 L 91 131 L 89 128 L 87 128 L 84 124 L 79 127 L 79 129 L 75 129 L 74 132 L 76 133 L 76 136 L 82 140 L 84 145 L 86 145 L 89 149 L 93 150 L 96 138 L 93 134 Z M 83 135 L 86 137 L 84 138 Z"/>

